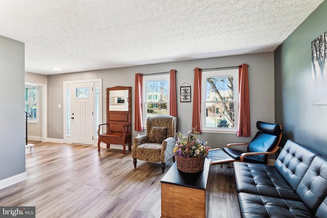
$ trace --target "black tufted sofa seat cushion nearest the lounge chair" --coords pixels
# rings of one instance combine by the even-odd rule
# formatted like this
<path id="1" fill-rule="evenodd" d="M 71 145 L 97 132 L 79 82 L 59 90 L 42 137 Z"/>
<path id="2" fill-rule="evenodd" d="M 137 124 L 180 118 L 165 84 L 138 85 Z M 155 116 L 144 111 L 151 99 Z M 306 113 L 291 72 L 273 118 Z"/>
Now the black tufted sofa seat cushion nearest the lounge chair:
<path id="1" fill-rule="evenodd" d="M 299 201 L 292 187 L 274 166 L 234 162 L 236 187 L 239 192 Z"/>

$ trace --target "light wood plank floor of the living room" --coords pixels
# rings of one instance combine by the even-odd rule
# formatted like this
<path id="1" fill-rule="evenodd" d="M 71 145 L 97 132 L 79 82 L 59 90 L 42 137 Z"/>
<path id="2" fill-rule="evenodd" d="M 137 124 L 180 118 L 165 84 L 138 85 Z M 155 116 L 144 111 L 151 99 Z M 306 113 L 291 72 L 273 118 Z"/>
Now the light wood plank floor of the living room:
<path id="1" fill-rule="evenodd" d="M 26 156 L 28 179 L 1 189 L 1 206 L 36 206 L 40 218 L 160 217 L 160 163 L 138 160 L 134 169 L 130 151 L 30 143 L 35 147 Z M 211 166 L 209 179 L 208 217 L 240 217 L 233 169 Z"/>

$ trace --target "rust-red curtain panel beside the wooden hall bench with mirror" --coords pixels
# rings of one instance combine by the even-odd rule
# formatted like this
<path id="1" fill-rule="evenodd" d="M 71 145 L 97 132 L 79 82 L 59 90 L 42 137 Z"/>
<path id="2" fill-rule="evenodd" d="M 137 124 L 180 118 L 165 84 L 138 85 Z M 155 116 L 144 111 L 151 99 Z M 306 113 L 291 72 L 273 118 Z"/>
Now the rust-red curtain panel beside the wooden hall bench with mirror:
<path id="1" fill-rule="evenodd" d="M 134 130 L 143 131 L 143 74 L 135 74 L 135 115 L 134 115 Z"/>

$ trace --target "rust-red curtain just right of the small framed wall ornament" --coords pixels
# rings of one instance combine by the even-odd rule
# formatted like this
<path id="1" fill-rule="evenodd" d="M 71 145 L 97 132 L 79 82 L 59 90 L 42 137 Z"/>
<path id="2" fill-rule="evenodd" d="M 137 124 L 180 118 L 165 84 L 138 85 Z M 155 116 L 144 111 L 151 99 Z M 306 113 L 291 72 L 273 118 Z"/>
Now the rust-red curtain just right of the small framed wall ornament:
<path id="1" fill-rule="evenodd" d="M 192 127 L 201 133 L 201 77 L 202 69 L 194 69 Z"/>

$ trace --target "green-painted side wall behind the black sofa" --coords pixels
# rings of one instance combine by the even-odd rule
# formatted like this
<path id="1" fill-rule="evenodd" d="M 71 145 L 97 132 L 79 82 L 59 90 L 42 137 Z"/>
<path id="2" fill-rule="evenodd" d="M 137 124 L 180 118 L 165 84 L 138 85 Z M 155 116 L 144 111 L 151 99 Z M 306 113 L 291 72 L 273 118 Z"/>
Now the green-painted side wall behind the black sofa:
<path id="1" fill-rule="evenodd" d="M 327 156 L 327 105 L 313 105 L 311 42 L 327 31 L 327 1 L 274 52 L 275 119 L 293 139 Z M 326 93 L 327 94 L 327 93 Z"/>

